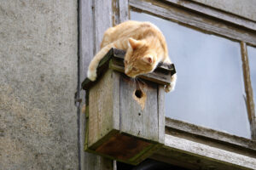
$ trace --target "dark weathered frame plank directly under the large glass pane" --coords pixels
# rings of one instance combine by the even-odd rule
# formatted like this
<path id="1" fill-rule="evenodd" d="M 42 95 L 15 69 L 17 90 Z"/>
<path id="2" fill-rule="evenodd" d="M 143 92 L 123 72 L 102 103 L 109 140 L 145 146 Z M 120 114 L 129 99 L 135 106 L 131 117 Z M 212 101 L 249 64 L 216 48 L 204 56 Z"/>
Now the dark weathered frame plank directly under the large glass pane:
<path id="1" fill-rule="evenodd" d="M 178 133 L 179 135 L 182 135 L 183 133 L 184 138 L 189 138 L 189 136 L 202 137 L 205 140 L 208 139 L 215 142 L 221 141 L 225 144 L 232 144 L 235 148 L 241 147 L 246 150 L 256 151 L 256 142 L 251 139 L 241 138 L 229 133 L 212 130 L 207 127 L 200 127 L 188 122 L 173 120 L 168 117 L 166 117 L 166 133 Z"/>

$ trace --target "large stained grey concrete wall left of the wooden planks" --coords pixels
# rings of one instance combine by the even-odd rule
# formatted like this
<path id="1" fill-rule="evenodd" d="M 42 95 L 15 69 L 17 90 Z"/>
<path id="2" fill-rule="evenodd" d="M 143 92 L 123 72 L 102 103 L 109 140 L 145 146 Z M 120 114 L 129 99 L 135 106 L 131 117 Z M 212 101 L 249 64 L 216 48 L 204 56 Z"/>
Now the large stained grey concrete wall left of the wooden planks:
<path id="1" fill-rule="evenodd" d="M 78 169 L 77 0 L 0 0 L 0 169 Z"/>

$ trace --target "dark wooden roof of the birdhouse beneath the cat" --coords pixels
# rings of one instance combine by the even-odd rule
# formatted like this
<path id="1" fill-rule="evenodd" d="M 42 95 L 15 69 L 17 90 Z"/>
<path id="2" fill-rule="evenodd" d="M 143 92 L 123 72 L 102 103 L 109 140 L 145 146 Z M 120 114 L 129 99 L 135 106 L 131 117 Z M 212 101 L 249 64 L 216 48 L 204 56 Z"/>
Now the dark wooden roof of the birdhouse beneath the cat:
<path id="1" fill-rule="evenodd" d="M 108 69 L 112 69 L 113 71 L 119 71 L 124 73 L 125 72 L 125 65 L 124 65 L 124 58 L 125 58 L 125 51 L 120 50 L 117 48 L 111 48 L 108 51 L 108 54 L 104 56 L 101 60 L 100 64 L 97 67 L 97 79 L 101 77 L 104 72 Z M 162 85 L 169 85 L 171 83 L 171 75 L 175 74 L 175 67 L 173 64 L 166 65 L 160 63 L 154 72 L 140 75 L 138 77 L 148 80 L 150 82 L 156 82 Z M 93 86 L 95 82 L 90 81 L 89 78 L 85 78 L 84 82 L 82 82 L 82 88 L 84 90 L 89 89 Z"/>

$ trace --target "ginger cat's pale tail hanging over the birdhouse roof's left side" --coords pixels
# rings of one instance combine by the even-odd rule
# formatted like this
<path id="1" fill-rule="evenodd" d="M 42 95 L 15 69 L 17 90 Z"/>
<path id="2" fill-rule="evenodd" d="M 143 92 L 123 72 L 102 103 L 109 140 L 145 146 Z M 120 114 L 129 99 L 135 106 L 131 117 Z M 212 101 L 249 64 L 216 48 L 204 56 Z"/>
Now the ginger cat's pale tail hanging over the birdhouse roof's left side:
<path id="1" fill-rule="evenodd" d="M 96 80 L 96 70 L 97 70 L 97 66 L 99 65 L 101 59 L 105 56 L 105 54 L 108 53 L 110 48 L 113 48 L 113 43 L 108 44 L 107 46 L 105 46 L 104 48 L 102 48 L 97 54 L 96 56 L 94 56 L 94 58 L 90 61 L 90 65 L 87 71 L 87 77 L 91 80 L 91 81 L 95 81 Z"/>

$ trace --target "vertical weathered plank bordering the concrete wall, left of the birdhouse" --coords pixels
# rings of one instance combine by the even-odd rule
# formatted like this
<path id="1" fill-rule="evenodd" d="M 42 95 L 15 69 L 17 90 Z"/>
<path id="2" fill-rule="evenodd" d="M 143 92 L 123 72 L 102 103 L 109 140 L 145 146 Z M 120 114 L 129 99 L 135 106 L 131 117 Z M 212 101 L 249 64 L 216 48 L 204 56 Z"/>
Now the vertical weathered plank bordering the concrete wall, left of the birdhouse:
<path id="1" fill-rule="evenodd" d="M 85 91 L 81 91 L 81 82 L 86 77 L 90 59 L 93 57 L 93 11 L 92 0 L 79 1 L 79 80 L 78 99 L 82 99 L 78 109 L 78 130 L 79 130 L 79 170 L 94 169 L 93 165 L 96 156 L 84 152 L 85 136 L 85 115 L 80 113 L 80 108 L 85 104 Z"/>

